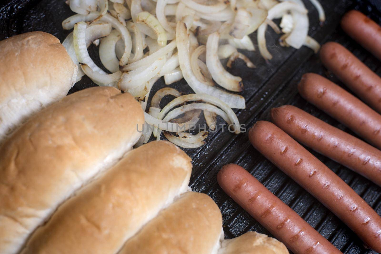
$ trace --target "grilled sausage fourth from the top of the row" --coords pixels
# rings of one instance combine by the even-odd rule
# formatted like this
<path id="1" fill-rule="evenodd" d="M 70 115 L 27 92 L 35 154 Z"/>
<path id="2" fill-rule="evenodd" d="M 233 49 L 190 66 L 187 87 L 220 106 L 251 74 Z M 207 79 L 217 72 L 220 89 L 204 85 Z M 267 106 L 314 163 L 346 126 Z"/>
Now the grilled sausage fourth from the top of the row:
<path id="1" fill-rule="evenodd" d="M 273 108 L 271 119 L 297 141 L 381 186 L 381 151 L 291 105 Z"/>

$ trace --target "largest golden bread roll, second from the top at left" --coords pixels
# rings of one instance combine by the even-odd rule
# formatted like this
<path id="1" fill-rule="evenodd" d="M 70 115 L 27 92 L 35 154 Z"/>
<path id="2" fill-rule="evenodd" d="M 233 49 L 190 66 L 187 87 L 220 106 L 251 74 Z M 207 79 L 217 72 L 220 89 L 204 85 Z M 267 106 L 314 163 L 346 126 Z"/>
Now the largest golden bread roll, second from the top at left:
<path id="1" fill-rule="evenodd" d="M 92 87 L 16 130 L 0 148 L 0 253 L 18 252 L 75 190 L 114 165 L 139 139 L 143 122 L 130 94 Z"/>

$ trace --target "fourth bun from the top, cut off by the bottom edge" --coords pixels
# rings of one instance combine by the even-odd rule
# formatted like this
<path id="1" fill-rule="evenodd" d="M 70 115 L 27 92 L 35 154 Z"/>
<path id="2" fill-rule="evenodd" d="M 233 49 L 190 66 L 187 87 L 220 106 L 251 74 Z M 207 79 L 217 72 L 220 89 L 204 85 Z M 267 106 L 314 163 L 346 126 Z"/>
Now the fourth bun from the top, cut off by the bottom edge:
<path id="1" fill-rule="evenodd" d="M 187 192 L 130 238 L 118 254 L 211 254 L 220 246 L 222 216 L 206 194 Z"/>

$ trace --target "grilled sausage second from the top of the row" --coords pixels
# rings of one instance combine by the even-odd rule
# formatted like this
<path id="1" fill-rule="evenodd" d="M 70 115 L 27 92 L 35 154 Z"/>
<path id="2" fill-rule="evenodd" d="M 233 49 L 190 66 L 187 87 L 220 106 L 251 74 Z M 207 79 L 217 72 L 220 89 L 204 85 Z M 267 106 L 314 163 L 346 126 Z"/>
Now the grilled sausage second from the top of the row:
<path id="1" fill-rule="evenodd" d="M 336 42 L 322 46 L 320 59 L 349 89 L 381 113 L 381 78 L 367 65 Z"/>

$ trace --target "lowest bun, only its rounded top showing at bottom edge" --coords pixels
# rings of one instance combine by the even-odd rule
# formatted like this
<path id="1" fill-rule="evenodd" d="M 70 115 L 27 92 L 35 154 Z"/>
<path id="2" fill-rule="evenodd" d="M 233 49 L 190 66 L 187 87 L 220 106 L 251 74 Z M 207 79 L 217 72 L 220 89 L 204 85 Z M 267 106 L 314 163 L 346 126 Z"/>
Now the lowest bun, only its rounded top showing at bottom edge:
<path id="1" fill-rule="evenodd" d="M 286 246 L 275 238 L 257 232 L 247 232 L 221 244 L 218 254 L 289 254 Z"/>

